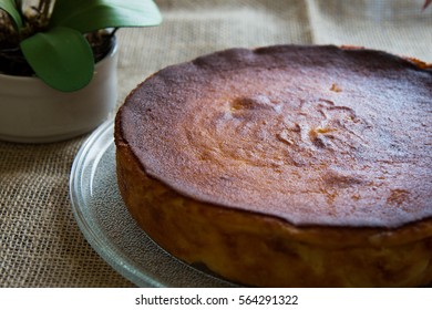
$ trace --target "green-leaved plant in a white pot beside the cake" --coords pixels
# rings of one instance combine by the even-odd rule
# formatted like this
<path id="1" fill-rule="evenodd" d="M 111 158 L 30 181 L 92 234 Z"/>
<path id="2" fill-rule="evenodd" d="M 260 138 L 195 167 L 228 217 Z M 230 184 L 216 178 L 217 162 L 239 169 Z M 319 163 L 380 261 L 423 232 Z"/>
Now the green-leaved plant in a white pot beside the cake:
<path id="1" fill-rule="evenodd" d="M 96 127 L 116 103 L 115 31 L 161 21 L 152 0 L 0 0 L 0 138 Z"/>

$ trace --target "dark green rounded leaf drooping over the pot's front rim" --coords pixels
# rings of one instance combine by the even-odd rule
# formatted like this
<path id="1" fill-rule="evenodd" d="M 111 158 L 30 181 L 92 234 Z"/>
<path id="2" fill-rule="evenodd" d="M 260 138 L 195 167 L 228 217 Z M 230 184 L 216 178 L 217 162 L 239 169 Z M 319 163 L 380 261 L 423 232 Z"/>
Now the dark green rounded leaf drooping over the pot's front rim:
<path id="1" fill-rule="evenodd" d="M 63 92 L 84 87 L 93 78 L 93 52 L 83 34 L 55 27 L 21 42 L 21 50 L 35 74 Z"/>

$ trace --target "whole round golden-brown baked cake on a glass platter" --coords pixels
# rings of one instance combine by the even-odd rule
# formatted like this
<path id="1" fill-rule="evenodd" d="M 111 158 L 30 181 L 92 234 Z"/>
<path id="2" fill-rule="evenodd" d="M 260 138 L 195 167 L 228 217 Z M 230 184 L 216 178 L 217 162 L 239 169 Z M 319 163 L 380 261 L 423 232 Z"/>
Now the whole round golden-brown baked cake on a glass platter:
<path id="1" fill-rule="evenodd" d="M 333 45 L 172 65 L 115 120 L 121 195 L 176 258 L 257 287 L 432 281 L 432 68 Z"/>

